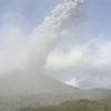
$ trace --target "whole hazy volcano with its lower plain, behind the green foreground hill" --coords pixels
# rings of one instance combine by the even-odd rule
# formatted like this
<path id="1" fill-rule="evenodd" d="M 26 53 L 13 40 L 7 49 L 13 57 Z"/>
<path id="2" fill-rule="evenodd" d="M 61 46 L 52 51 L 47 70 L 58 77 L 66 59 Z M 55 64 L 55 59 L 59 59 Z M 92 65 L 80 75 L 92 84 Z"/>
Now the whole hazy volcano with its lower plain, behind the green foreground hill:
<path id="1" fill-rule="evenodd" d="M 111 90 L 82 90 L 30 71 L 11 71 L 0 75 L 0 111 L 59 104 L 67 100 L 94 100 L 110 94 Z"/>

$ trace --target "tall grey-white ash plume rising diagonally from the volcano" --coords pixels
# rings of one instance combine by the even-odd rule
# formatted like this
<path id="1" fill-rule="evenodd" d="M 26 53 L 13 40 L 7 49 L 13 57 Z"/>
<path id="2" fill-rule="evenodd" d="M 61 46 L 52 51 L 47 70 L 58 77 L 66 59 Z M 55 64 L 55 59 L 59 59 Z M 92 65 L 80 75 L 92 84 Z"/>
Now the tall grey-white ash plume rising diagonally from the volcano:
<path id="1" fill-rule="evenodd" d="M 58 4 L 51 11 L 51 16 L 46 17 L 43 23 L 24 40 L 22 48 L 2 63 L 1 72 L 28 70 L 43 73 L 48 54 L 56 48 L 58 40 L 85 20 L 83 2 L 83 0 L 65 0 L 63 4 Z"/>

